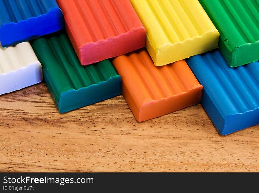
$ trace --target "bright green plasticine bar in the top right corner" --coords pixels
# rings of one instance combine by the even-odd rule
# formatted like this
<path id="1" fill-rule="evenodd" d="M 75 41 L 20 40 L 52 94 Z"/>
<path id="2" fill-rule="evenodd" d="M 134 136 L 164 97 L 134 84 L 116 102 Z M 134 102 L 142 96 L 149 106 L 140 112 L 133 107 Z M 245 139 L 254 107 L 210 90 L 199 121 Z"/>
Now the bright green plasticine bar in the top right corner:
<path id="1" fill-rule="evenodd" d="M 259 5 L 255 0 L 200 0 L 220 32 L 219 50 L 228 65 L 259 60 Z"/>

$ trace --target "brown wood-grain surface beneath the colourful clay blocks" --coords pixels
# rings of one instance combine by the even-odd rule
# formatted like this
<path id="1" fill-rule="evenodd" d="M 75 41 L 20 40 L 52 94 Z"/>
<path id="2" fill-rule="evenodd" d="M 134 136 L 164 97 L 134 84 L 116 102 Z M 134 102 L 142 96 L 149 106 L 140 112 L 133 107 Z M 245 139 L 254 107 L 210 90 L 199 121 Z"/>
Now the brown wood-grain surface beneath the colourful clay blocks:
<path id="1" fill-rule="evenodd" d="M 0 96 L 0 172 L 258 172 L 258 126 L 218 135 L 201 105 L 137 122 L 122 96 L 59 114 L 44 83 Z"/>

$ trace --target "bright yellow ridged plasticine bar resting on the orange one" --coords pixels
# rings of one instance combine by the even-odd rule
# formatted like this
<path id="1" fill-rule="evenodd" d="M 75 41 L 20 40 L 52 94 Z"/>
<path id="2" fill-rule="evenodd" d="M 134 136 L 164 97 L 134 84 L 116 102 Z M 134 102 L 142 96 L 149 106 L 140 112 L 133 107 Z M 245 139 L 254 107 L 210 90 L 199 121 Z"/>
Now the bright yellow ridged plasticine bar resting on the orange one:
<path id="1" fill-rule="evenodd" d="M 163 66 L 218 47 L 219 32 L 198 0 L 130 0 L 146 28 L 146 47 Z"/>

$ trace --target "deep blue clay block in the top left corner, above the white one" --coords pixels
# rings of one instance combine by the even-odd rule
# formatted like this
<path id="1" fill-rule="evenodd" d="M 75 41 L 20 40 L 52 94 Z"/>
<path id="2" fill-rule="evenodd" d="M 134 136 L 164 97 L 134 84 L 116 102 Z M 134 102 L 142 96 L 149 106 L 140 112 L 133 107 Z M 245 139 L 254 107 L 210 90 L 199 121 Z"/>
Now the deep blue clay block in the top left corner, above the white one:
<path id="1" fill-rule="evenodd" d="M 31 40 L 64 27 L 55 0 L 1 0 L 0 41 L 3 47 Z"/>

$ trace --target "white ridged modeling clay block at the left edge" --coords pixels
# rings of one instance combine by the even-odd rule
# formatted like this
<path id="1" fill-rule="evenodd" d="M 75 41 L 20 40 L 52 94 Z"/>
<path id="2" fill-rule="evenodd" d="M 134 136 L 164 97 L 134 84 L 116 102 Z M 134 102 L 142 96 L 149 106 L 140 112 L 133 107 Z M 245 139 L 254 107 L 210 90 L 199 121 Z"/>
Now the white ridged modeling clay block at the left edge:
<path id="1" fill-rule="evenodd" d="M 0 45 L 0 95 L 41 81 L 41 64 L 29 42 L 7 48 Z"/>

